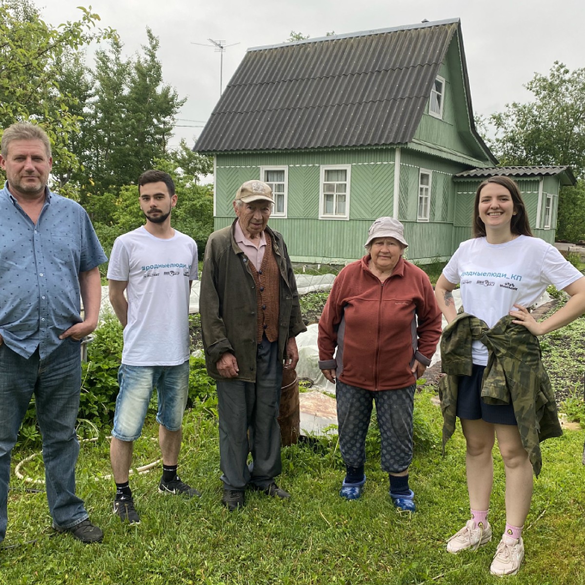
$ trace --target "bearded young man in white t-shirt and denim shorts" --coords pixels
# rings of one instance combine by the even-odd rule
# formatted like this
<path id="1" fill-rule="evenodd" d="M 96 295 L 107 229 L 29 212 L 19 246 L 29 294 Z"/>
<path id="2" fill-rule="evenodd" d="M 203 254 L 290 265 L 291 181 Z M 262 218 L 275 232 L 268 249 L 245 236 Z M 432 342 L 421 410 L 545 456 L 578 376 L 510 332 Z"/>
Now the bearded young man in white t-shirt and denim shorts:
<path id="1" fill-rule="evenodd" d="M 116 482 L 113 512 L 130 524 L 140 522 L 128 481 L 133 442 L 155 387 L 163 459 L 159 491 L 201 495 L 177 476 L 189 390 L 188 314 L 191 283 L 197 278 L 197 244 L 171 227 L 177 195 L 170 175 L 146 171 L 138 185 L 146 224 L 116 239 L 108 266 L 109 298 L 124 328 L 110 446 Z"/>

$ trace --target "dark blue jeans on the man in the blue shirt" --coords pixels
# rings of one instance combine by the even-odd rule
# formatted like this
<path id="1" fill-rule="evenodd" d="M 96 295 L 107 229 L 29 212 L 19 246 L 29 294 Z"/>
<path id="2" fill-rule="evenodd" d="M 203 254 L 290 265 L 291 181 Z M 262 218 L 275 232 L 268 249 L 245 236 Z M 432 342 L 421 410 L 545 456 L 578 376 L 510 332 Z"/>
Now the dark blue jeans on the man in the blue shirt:
<path id="1" fill-rule="evenodd" d="M 53 527 L 64 530 L 88 517 L 75 495 L 75 463 L 79 443 L 75 422 L 81 387 L 80 343 L 67 338 L 53 353 L 29 359 L 0 345 L 0 541 L 8 522 L 8 483 L 12 448 L 35 395 L 36 415 L 43 436 L 43 461 Z"/>

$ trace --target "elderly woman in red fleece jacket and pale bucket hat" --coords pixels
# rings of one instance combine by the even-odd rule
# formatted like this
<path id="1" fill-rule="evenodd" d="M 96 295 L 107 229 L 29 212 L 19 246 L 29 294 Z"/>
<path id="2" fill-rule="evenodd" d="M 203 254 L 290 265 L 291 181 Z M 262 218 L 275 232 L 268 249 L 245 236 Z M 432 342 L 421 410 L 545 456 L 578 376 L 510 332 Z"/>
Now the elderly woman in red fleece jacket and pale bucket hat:
<path id="1" fill-rule="evenodd" d="M 402 258 L 404 226 L 391 217 L 370 227 L 367 254 L 333 283 L 319 321 L 319 368 L 336 384 L 339 446 L 346 476 L 339 495 L 362 495 L 372 402 L 381 438 L 382 469 L 400 511 L 415 511 L 408 484 L 417 378 L 441 336 L 429 277 Z"/>

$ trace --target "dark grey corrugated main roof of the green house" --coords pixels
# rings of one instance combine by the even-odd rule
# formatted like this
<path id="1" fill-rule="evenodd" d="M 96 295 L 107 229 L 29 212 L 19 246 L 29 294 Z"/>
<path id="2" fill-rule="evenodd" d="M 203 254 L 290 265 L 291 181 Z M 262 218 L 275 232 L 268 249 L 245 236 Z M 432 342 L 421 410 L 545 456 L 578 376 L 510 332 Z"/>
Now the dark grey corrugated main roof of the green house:
<path id="1" fill-rule="evenodd" d="M 450 19 L 248 49 L 195 149 L 407 143 L 456 33 Z"/>

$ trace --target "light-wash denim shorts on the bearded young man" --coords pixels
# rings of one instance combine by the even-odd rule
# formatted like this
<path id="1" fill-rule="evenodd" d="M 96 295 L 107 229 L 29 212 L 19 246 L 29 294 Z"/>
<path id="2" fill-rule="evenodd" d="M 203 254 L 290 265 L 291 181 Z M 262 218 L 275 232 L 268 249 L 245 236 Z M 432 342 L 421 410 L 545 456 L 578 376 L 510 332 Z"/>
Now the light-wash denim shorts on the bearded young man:
<path id="1" fill-rule="evenodd" d="M 120 441 L 139 438 L 154 388 L 159 399 L 157 422 L 169 431 L 180 431 L 189 394 L 189 360 L 178 366 L 122 364 L 118 383 L 112 436 Z"/>

